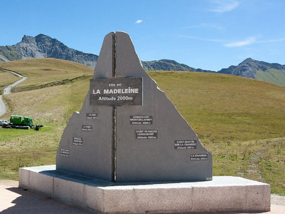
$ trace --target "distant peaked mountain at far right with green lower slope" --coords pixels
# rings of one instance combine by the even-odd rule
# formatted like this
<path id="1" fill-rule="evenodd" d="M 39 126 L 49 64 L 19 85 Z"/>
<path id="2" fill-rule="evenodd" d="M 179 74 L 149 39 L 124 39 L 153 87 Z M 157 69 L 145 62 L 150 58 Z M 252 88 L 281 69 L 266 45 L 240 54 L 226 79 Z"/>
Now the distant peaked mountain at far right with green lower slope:
<path id="1" fill-rule="evenodd" d="M 219 70 L 218 73 L 243 76 L 285 86 L 285 65 L 278 63 L 268 63 L 247 58 L 237 66 L 231 65 L 229 68 Z"/>

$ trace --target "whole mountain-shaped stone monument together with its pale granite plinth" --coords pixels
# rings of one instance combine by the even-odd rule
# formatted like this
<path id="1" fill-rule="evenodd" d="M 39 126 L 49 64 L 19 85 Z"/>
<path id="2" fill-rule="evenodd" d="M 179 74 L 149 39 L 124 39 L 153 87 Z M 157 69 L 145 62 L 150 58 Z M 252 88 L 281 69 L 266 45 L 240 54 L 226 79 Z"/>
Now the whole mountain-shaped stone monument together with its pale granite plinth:
<path id="1" fill-rule="evenodd" d="M 212 154 L 143 70 L 124 32 L 105 36 L 56 165 L 20 168 L 19 187 L 95 213 L 270 210 L 270 185 L 212 177 Z"/>

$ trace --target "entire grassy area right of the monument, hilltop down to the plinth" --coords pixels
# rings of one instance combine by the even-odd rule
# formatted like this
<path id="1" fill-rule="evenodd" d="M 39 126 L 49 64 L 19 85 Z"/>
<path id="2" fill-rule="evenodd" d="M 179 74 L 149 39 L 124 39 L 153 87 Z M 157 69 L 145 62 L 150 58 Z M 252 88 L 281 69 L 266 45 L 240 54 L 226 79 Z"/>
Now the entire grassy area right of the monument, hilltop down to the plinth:
<path id="1" fill-rule="evenodd" d="M 149 72 L 213 153 L 213 174 L 285 194 L 285 88 L 239 76 Z"/>

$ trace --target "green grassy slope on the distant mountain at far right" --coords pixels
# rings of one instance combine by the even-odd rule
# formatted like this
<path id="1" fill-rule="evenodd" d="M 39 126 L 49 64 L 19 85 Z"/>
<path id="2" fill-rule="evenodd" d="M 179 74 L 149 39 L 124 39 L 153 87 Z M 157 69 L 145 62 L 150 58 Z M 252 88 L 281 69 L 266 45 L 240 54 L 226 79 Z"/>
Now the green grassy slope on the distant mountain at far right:
<path id="1" fill-rule="evenodd" d="M 272 82 L 274 84 L 285 87 L 285 75 L 281 70 L 274 68 L 269 68 L 266 71 L 257 70 L 256 76 L 258 80 L 263 80 L 266 82 Z"/>

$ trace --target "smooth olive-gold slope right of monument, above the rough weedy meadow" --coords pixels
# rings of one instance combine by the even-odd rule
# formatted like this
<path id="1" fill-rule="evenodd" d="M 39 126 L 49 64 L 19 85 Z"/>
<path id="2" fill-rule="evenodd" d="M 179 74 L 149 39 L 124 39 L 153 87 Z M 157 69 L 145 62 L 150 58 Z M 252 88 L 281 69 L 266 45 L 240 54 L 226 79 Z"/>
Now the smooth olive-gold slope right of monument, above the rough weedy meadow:
<path id="1" fill-rule="evenodd" d="M 227 74 L 149 72 L 207 141 L 285 136 L 285 88 Z"/>

